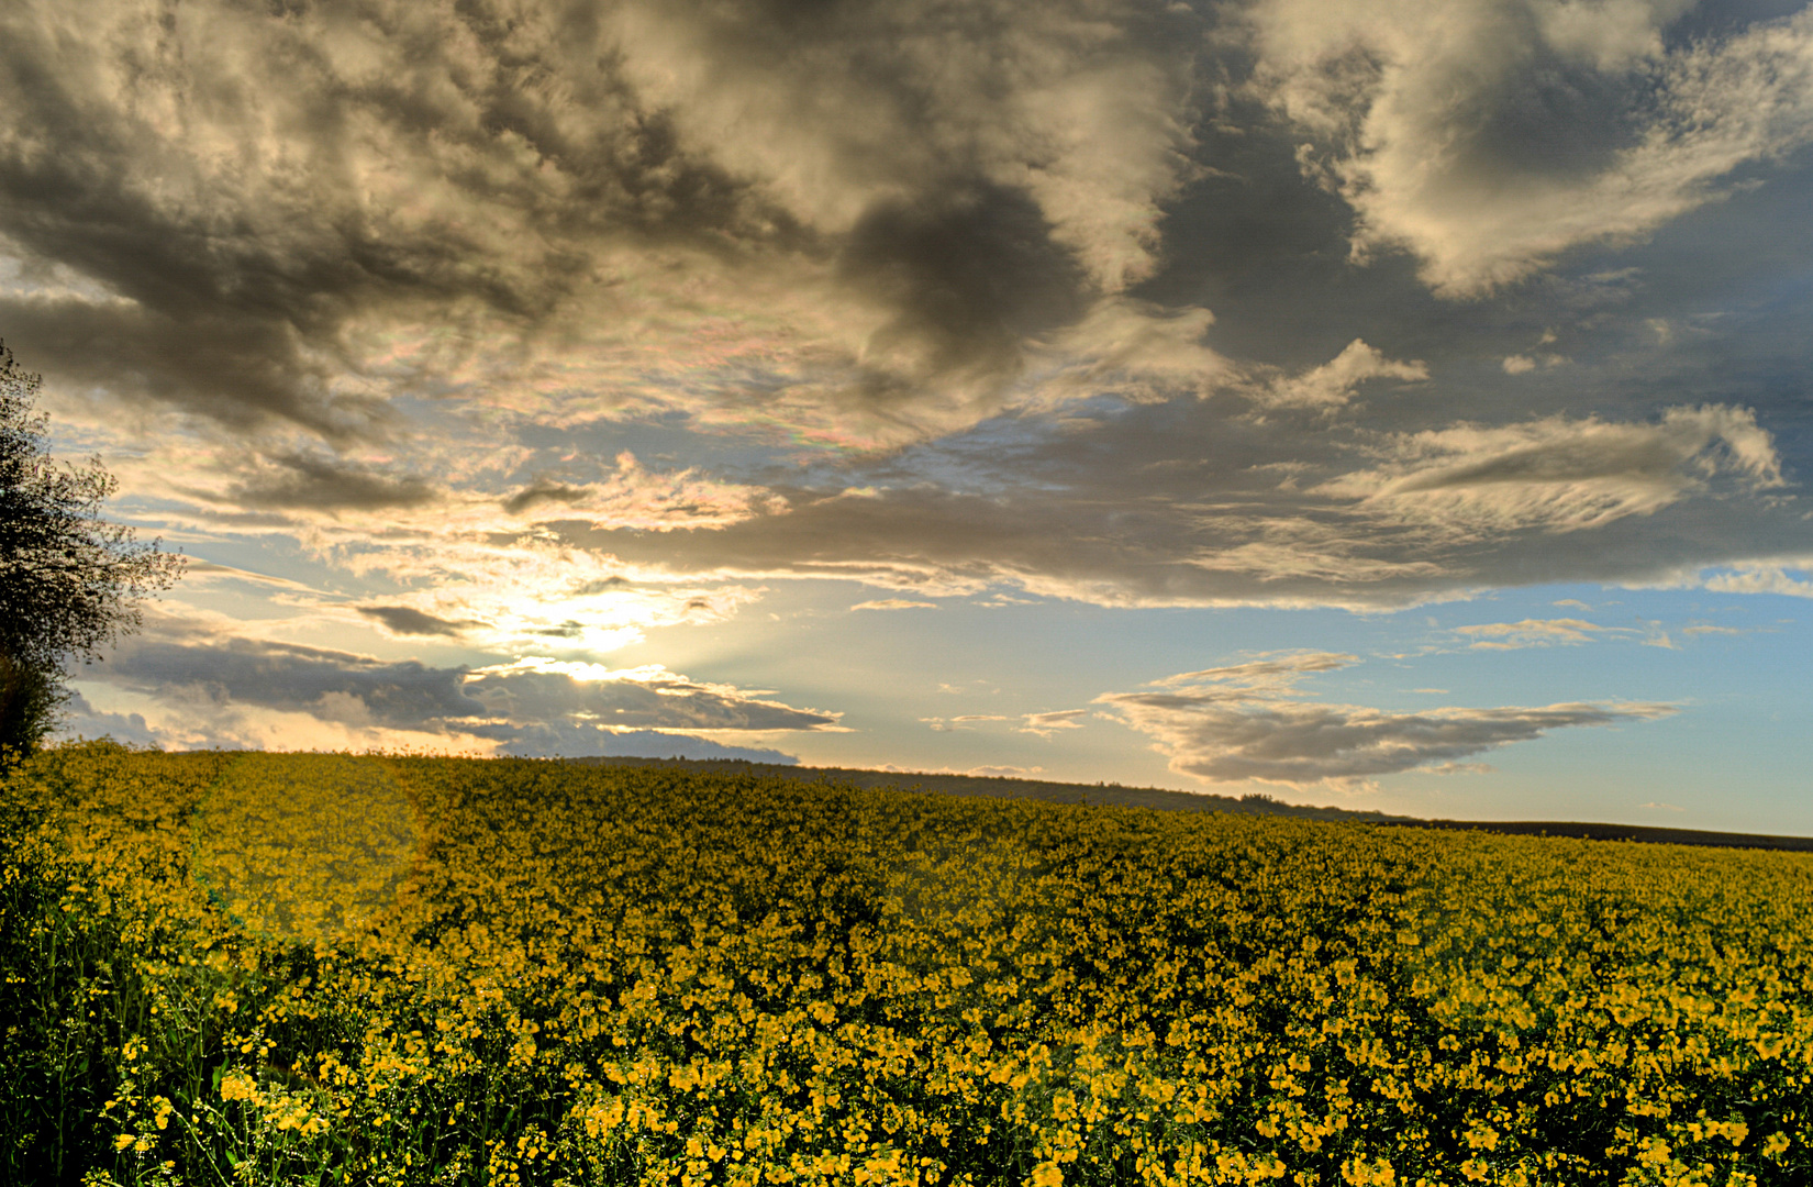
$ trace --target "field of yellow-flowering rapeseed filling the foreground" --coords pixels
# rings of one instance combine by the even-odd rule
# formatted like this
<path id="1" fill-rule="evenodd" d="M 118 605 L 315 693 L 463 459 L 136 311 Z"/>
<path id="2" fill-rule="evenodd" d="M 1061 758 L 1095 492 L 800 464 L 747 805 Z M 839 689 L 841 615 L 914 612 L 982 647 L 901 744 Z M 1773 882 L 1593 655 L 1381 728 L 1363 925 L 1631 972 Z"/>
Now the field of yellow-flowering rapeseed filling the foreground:
<path id="1" fill-rule="evenodd" d="M 0 794 L 9 1183 L 1813 1183 L 1813 859 L 412 756 Z"/>

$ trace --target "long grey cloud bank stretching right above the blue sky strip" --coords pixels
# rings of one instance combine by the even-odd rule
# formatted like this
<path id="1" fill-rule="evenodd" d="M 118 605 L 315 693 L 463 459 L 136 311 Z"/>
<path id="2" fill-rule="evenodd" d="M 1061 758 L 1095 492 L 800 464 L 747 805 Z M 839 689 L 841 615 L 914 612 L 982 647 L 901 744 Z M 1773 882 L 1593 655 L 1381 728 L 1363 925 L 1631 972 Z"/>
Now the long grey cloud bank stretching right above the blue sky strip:
<path id="1" fill-rule="evenodd" d="M 1664 580 L 1739 549 L 1809 545 L 1766 433 L 1739 410 L 1380 433 L 1311 429 L 1314 413 L 1291 410 L 1260 424 L 1244 408 L 1142 406 L 1073 415 L 1061 431 L 1015 422 L 845 475 L 872 495 L 787 489 L 785 509 L 711 533 L 549 518 L 575 545 L 678 573 L 925 593 L 1019 584 L 1157 605 L 1405 605 L 1494 585 Z"/>

